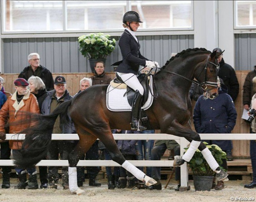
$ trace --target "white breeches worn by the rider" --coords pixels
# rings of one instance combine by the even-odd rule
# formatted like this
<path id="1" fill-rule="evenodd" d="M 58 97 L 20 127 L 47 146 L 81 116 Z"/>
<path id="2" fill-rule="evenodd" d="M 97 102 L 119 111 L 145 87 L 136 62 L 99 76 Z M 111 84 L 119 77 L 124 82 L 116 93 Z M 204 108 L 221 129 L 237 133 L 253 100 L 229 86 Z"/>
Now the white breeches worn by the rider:
<path id="1" fill-rule="evenodd" d="M 133 73 L 120 73 L 117 72 L 117 74 L 121 77 L 121 79 L 124 81 L 124 83 L 129 86 L 130 88 L 132 88 L 133 90 L 139 90 L 139 93 L 141 95 L 144 94 L 144 89 L 141 85 L 141 83 L 139 83 L 139 80 L 137 79 L 136 75 Z"/>

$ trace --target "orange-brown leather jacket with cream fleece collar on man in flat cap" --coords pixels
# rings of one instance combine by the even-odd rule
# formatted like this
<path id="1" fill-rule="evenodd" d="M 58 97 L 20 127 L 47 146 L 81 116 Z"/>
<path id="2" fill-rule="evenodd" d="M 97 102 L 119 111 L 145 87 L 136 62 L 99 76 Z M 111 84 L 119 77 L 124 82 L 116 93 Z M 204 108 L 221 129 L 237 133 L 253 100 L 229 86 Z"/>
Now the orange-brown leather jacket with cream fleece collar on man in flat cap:
<path id="1" fill-rule="evenodd" d="M 8 119 L 8 116 L 8 122 L 11 123 L 9 126 L 9 133 L 17 134 L 22 132 L 22 130 L 33 126 L 32 122 L 21 122 L 22 124 L 15 124 L 27 119 L 26 113 L 22 112 L 39 113 L 39 107 L 35 95 L 28 92 L 28 94 L 23 96 L 18 105 L 16 94 L 17 91 L 15 91 L 11 97 L 8 97 L 6 103 L 4 103 L 4 106 L 0 110 L 0 132 L 5 132 L 4 125 L 6 123 L 6 119 Z M 22 141 L 9 140 L 9 147 L 11 149 L 20 149 L 21 145 Z"/>

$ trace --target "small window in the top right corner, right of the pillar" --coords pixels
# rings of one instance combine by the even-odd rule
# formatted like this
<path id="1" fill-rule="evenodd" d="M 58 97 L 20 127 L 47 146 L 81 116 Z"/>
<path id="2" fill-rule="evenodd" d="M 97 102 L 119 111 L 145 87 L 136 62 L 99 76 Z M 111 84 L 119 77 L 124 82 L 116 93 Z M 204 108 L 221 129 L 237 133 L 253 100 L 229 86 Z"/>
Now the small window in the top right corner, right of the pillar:
<path id="1" fill-rule="evenodd" d="M 234 28 L 256 28 L 256 1 L 234 1 Z"/>

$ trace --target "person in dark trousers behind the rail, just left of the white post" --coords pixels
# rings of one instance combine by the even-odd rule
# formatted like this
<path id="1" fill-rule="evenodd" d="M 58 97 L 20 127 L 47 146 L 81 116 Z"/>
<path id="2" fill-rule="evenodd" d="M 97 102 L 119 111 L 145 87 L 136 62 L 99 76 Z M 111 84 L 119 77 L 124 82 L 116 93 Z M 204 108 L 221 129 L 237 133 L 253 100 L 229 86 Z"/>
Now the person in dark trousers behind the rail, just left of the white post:
<path id="1" fill-rule="evenodd" d="M 173 149 L 175 155 L 180 155 L 180 145 L 175 140 L 157 140 L 151 151 L 151 160 L 161 160 L 166 149 Z M 175 179 L 180 180 L 180 167 L 176 167 L 175 169 Z M 152 167 L 151 177 L 157 182 L 152 185 L 152 189 L 161 190 L 161 167 Z M 180 184 L 178 185 L 177 190 L 179 186 Z"/>

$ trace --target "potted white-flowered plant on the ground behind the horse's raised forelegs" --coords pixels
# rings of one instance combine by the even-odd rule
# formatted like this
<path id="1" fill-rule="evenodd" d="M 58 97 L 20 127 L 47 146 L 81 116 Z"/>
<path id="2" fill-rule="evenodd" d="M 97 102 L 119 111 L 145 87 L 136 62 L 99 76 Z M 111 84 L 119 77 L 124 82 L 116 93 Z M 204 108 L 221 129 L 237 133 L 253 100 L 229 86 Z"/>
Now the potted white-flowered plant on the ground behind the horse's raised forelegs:
<path id="1" fill-rule="evenodd" d="M 204 142 L 204 144 L 211 151 L 217 163 L 222 165 L 223 159 L 226 159 L 226 152 L 222 151 L 218 145 L 209 145 L 207 142 Z M 185 148 L 185 151 L 187 151 L 188 148 L 189 147 Z M 195 190 L 210 191 L 215 172 L 210 168 L 199 149 L 195 151 L 194 156 L 190 162 L 188 162 L 188 166 L 193 173 Z"/>

